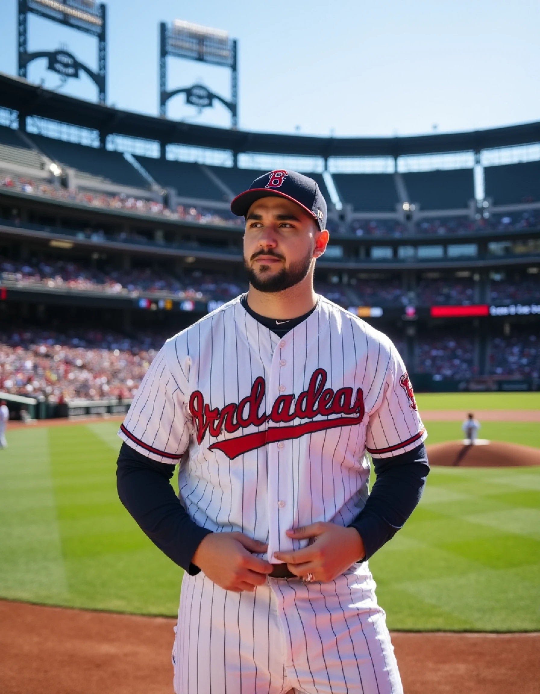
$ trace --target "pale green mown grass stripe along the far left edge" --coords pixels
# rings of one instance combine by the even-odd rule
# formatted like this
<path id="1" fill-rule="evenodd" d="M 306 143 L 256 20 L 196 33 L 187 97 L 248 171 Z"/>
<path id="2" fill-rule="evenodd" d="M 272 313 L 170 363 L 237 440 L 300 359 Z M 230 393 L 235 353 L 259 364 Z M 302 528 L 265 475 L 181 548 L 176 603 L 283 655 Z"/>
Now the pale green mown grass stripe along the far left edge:
<path id="1" fill-rule="evenodd" d="M 47 429 L 8 432 L 0 450 L 0 595 L 58 602 L 67 593 Z"/>

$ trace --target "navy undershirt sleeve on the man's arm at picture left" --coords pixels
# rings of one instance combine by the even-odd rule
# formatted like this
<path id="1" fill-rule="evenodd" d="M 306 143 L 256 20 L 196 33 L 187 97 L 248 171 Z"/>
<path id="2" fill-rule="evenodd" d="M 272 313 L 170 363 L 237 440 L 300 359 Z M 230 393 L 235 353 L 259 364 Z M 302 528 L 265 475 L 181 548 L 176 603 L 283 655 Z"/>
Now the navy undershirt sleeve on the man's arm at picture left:
<path id="1" fill-rule="evenodd" d="M 122 443 L 117 460 L 118 496 L 142 530 L 164 554 L 190 575 L 192 557 L 211 530 L 197 525 L 171 485 L 174 465 L 158 463 Z"/>

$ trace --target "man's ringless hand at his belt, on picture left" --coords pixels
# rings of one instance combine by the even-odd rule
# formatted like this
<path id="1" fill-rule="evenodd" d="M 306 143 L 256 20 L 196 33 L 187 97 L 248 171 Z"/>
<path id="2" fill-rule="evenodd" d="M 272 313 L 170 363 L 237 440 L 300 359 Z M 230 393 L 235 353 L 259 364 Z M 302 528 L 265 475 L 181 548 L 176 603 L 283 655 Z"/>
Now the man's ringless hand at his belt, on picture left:
<path id="1" fill-rule="evenodd" d="M 226 591 L 253 592 L 256 586 L 262 586 L 273 567 L 251 552 L 259 554 L 267 549 L 268 545 L 242 532 L 212 532 L 196 548 L 192 564 Z"/>

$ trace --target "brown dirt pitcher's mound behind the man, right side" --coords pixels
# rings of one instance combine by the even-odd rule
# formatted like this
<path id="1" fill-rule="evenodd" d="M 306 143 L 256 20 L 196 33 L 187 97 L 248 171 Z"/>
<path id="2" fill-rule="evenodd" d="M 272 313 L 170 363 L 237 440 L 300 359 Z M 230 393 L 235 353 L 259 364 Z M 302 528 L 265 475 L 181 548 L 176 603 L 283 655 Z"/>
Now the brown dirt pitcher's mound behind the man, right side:
<path id="1" fill-rule="evenodd" d="M 514 465 L 540 465 L 540 448 L 518 443 L 491 441 L 485 446 L 465 446 L 463 441 L 448 441 L 426 446 L 430 465 L 471 468 L 500 468 Z"/>

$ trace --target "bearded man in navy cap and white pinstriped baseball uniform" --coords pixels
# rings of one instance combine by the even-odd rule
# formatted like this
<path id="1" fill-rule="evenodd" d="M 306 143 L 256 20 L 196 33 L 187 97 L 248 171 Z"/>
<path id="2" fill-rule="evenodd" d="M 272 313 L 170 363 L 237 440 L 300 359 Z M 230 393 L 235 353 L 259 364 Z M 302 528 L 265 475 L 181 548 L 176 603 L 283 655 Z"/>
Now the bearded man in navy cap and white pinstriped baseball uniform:
<path id="1" fill-rule="evenodd" d="M 185 569 L 174 691 L 398 694 L 366 559 L 428 473 L 410 381 L 385 335 L 314 293 L 314 180 L 272 171 L 231 210 L 248 293 L 167 341 L 119 432 L 120 498 Z"/>

